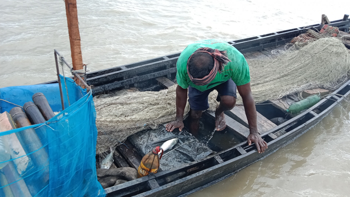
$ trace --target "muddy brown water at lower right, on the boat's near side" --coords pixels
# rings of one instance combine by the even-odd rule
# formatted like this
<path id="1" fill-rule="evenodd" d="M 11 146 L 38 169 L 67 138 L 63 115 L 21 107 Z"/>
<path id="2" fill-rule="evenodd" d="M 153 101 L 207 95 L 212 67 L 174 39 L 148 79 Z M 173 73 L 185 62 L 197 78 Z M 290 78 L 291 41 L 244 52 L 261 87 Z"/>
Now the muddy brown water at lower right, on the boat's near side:
<path id="1" fill-rule="evenodd" d="M 338 106 L 286 147 L 190 196 L 349 196 L 349 128 L 349 110 Z"/>

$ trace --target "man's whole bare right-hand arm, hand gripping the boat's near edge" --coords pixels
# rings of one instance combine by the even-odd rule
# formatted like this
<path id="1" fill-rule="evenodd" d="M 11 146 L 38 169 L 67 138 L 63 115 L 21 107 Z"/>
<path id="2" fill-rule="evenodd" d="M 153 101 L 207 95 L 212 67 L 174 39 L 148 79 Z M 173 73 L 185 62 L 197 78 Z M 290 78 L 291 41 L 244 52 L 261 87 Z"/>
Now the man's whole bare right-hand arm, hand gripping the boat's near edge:
<path id="1" fill-rule="evenodd" d="M 267 143 L 262 140 L 260 134 L 258 133 L 257 127 L 257 110 L 254 104 L 254 98 L 252 95 L 252 90 L 250 88 L 250 83 L 237 86 L 239 95 L 242 97 L 245 114 L 248 120 L 249 132 L 247 137 L 248 145 L 255 143 L 258 149 L 258 153 L 264 153 L 267 148 Z"/>

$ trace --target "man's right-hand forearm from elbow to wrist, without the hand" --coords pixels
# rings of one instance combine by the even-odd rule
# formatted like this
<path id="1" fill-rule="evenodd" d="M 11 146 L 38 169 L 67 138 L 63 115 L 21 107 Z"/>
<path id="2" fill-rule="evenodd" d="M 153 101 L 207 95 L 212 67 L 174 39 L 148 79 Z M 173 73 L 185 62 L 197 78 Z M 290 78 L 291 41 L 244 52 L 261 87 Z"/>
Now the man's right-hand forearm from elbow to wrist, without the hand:
<path id="1" fill-rule="evenodd" d="M 257 110 L 255 108 L 253 96 L 242 98 L 245 115 L 247 116 L 250 133 L 258 133 L 257 128 Z"/>

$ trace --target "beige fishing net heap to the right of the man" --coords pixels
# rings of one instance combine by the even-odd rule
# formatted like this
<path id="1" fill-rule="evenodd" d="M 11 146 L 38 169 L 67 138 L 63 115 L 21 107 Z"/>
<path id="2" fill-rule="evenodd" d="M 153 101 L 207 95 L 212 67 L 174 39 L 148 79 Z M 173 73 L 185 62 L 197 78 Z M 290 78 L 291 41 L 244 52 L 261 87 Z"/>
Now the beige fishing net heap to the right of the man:
<path id="1" fill-rule="evenodd" d="M 348 80 L 350 53 L 338 38 L 286 49 L 272 51 L 271 58 L 247 59 L 256 103 L 315 88 L 335 90 Z M 241 103 L 238 98 L 237 104 Z"/>

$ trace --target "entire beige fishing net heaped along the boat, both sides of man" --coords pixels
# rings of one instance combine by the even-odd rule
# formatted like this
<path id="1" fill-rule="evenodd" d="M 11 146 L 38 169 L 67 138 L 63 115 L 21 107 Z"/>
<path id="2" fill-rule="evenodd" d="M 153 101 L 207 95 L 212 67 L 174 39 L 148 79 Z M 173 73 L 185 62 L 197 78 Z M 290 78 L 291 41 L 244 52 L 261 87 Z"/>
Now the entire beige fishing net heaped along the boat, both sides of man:
<path id="1" fill-rule="evenodd" d="M 334 90 L 348 79 L 350 54 L 339 38 L 327 37 L 273 50 L 272 57 L 247 59 L 251 89 L 256 103 L 323 88 Z M 109 150 L 136 132 L 155 129 L 175 119 L 176 85 L 160 92 L 130 92 L 122 96 L 95 98 L 98 129 L 96 153 Z M 217 92 L 209 95 L 215 110 Z M 242 99 L 237 94 L 237 104 Z M 187 103 L 185 116 L 189 111 Z"/>

